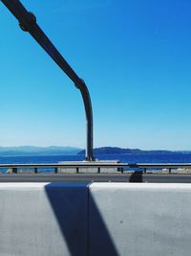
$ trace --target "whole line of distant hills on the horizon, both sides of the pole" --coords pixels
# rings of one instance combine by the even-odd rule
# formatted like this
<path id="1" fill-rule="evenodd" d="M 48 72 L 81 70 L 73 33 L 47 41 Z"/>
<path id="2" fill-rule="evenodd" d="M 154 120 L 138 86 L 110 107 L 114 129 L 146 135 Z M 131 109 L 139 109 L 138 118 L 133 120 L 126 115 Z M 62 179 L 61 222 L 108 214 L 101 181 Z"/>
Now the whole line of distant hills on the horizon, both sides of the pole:
<path id="1" fill-rule="evenodd" d="M 117 147 L 96 148 L 94 154 L 124 154 L 124 153 L 191 153 L 191 151 L 142 151 L 138 149 L 121 149 Z M 85 154 L 84 150 L 74 147 L 0 147 L 0 156 L 33 156 L 33 155 L 76 155 Z"/>

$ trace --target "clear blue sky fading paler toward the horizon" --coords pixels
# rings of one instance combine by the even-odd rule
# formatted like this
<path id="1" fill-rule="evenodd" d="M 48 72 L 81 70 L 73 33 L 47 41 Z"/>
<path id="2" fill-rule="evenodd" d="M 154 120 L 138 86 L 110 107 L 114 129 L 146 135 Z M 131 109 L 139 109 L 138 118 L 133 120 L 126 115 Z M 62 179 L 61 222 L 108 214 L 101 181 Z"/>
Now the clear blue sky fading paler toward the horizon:
<path id="1" fill-rule="evenodd" d="M 191 150 L 191 1 L 22 2 L 79 77 L 95 147 Z M 72 81 L 0 3 L 0 146 L 85 147 Z"/>

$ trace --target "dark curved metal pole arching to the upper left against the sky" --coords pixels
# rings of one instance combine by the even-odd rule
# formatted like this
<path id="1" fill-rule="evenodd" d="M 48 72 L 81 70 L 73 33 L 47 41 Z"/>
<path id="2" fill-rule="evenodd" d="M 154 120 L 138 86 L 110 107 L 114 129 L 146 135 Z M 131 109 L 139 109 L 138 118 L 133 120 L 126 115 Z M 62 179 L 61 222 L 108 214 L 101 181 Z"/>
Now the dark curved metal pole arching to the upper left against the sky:
<path id="1" fill-rule="evenodd" d="M 66 73 L 66 75 L 72 81 L 74 81 L 76 88 L 80 90 L 85 107 L 87 121 L 86 160 L 93 161 L 93 111 L 90 94 L 85 82 L 75 74 L 73 68 L 53 46 L 51 40 L 47 35 L 45 35 L 45 33 L 36 23 L 36 17 L 32 12 L 28 12 L 18 0 L 1 1 L 19 21 L 20 28 L 32 35 L 32 37 L 40 44 L 40 46 L 47 52 L 47 54 L 53 58 L 53 61 Z"/>

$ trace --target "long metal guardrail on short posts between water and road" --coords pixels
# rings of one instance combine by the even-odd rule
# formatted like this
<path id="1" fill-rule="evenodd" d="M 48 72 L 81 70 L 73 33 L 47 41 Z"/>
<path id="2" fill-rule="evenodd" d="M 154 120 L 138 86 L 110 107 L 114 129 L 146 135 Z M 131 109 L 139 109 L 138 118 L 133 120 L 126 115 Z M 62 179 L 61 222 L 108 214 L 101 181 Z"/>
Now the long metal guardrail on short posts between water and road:
<path id="1" fill-rule="evenodd" d="M 101 168 L 114 168 L 116 172 L 123 174 L 124 169 L 130 169 L 136 172 L 143 172 L 146 174 L 147 170 L 162 170 L 167 169 L 169 174 L 172 173 L 172 169 L 190 168 L 191 163 L 101 163 L 101 162 L 66 162 L 66 163 L 39 163 L 39 164 L 0 164 L 1 170 L 8 170 L 9 173 L 17 174 L 18 170 L 33 170 L 34 174 L 38 173 L 38 170 L 53 169 L 55 174 L 58 170 L 64 173 L 64 169 L 75 169 L 76 173 L 80 173 L 80 169 L 88 169 L 91 173 L 92 170 L 97 170 L 97 174 L 101 173 Z"/>

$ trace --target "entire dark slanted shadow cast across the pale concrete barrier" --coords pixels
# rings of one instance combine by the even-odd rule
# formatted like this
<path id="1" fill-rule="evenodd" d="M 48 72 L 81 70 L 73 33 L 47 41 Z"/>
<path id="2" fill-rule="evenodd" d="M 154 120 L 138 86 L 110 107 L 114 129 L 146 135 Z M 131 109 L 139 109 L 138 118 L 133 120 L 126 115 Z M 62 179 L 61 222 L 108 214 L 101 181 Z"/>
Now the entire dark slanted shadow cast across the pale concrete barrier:
<path id="1" fill-rule="evenodd" d="M 89 185 L 53 182 L 45 186 L 63 240 L 72 256 L 118 256 L 94 198 L 90 196 Z M 63 255 L 65 253 L 63 251 Z"/>

